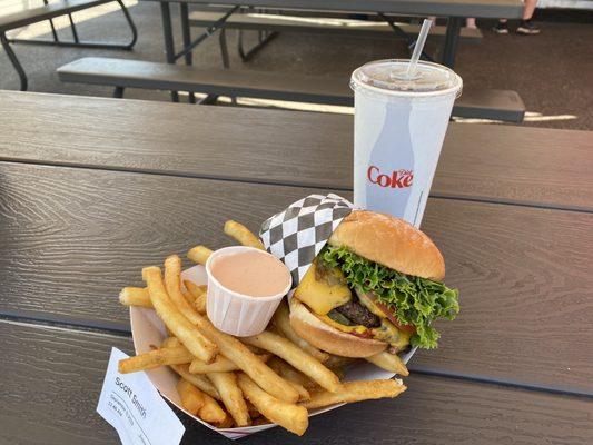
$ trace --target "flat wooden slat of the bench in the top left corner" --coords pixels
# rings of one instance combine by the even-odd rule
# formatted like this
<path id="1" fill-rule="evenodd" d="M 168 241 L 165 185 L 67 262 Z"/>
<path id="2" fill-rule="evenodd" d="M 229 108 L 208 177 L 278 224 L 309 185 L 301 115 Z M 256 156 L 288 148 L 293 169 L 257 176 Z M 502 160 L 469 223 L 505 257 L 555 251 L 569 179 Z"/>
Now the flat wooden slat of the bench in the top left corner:
<path id="1" fill-rule="evenodd" d="M 37 23 L 69 12 L 80 11 L 82 9 L 110 3 L 113 0 L 63 0 L 38 8 L 26 9 L 8 16 L 0 16 L 0 31 L 24 27 L 27 24 Z"/>

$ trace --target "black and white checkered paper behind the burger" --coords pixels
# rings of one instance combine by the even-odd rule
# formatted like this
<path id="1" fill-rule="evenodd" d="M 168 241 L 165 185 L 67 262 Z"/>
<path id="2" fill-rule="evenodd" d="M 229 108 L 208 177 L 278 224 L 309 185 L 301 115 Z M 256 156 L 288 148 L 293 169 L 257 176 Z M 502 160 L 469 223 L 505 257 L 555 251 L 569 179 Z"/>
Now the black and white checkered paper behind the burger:
<path id="1" fill-rule="evenodd" d="M 293 275 L 296 287 L 336 227 L 354 210 L 340 196 L 309 195 L 266 219 L 259 237 Z"/>

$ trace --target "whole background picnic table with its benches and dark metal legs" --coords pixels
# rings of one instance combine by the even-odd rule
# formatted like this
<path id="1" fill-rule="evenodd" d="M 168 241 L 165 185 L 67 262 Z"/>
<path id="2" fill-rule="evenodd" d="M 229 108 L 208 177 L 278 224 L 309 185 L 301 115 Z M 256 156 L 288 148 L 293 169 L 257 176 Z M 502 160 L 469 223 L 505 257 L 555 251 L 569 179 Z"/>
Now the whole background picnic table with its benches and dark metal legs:
<path id="1" fill-rule="evenodd" d="M 255 27 L 254 20 L 264 20 L 259 17 L 254 18 L 246 14 L 235 14 L 241 11 L 243 7 L 268 7 L 277 9 L 296 9 L 320 11 L 366 11 L 375 14 L 379 13 L 387 20 L 387 28 L 393 32 L 407 36 L 407 32 L 415 32 L 413 29 L 402 23 L 394 23 L 388 14 L 394 13 L 415 13 L 415 14 L 435 14 L 448 17 L 446 31 L 437 28 L 437 34 L 444 34 L 444 44 L 442 62 L 452 67 L 457 43 L 459 39 L 468 37 L 480 31 L 463 31 L 461 27 L 462 17 L 466 17 L 470 11 L 471 16 L 476 17 L 515 17 L 522 10 L 522 3 L 518 0 L 436 0 L 436 1 L 408 1 L 408 0 L 382 0 L 373 2 L 360 1 L 323 1 L 315 2 L 296 2 L 294 0 L 277 1 L 244 1 L 241 4 L 234 4 L 226 12 L 199 12 L 195 11 L 189 14 L 188 6 L 191 3 L 204 4 L 202 0 L 159 0 L 161 7 L 162 26 L 165 34 L 165 50 L 167 56 L 166 63 L 156 63 L 148 61 L 125 60 L 117 62 L 117 59 L 107 58 L 86 58 L 68 63 L 58 70 L 60 79 L 63 81 L 82 82 L 91 85 L 105 85 L 116 87 L 113 96 L 121 97 L 126 88 L 148 88 L 172 90 L 174 101 L 178 101 L 177 91 L 188 91 L 189 101 L 195 102 L 195 92 L 207 93 L 207 102 L 216 101 L 217 96 L 245 96 L 266 99 L 295 100 L 315 103 L 328 105 L 352 105 L 353 96 L 348 88 L 347 77 L 325 77 L 325 76 L 299 76 L 286 75 L 284 72 L 258 72 L 258 71 L 234 71 L 228 68 L 228 50 L 226 48 L 225 27 L 239 27 L 248 29 Z M 181 16 L 181 36 L 182 48 L 176 52 L 172 21 L 170 14 L 170 2 L 178 2 Z M 220 4 L 230 4 L 228 1 Z M 339 8 L 342 6 L 342 8 Z M 358 9 L 356 9 L 358 8 Z M 497 16 L 496 16 L 497 14 Z M 280 19 L 275 19 L 271 31 L 286 29 L 298 29 L 296 23 L 287 23 Z M 296 19 L 295 19 L 296 20 Z M 338 21 L 339 22 L 339 21 Z M 347 23 L 342 21 L 342 23 Z M 206 30 L 191 39 L 191 26 L 205 26 Z M 259 24 L 257 24 L 259 26 Z M 368 27 L 368 26 L 366 26 Z M 359 32 L 363 26 L 359 26 Z M 385 24 L 380 30 L 375 29 L 373 33 L 384 36 L 388 32 Z M 309 30 L 316 32 L 350 32 L 347 26 L 309 26 Z M 176 66 L 177 60 L 184 59 L 187 66 L 194 63 L 191 51 L 204 40 L 220 30 L 221 53 L 224 60 L 223 69 L 201 69 L 184 68 Z M 370 33 L 370 34 L 373 34 Z M 273 36 L 273 34 L 270 34 Z M 465 36 L 465 37 L 464 37 Z M 475 36 L 474 36 L 475 40 Z M 257 49 L 257 47 L 256 47 Z M 253 52 L 253 51 L 250 51 Z M 244 57 L 248 55 L 244 53 Z M 510 90 L 465 90 L 462 98 L 457 101 L 454 116 L 472 117 L 482 119 L 497 119 L 521 122 L 525 115 L 525 105 L 515 91 Z"/>

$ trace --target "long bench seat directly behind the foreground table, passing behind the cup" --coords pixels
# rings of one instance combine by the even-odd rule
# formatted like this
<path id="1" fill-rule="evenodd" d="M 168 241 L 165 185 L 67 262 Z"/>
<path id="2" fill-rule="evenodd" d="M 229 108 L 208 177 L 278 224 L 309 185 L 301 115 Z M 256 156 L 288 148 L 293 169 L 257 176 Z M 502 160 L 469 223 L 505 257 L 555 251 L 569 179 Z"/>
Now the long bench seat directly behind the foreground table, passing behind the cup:
<path id="1" fill-rule="evenodd" d="M 86 57 L 58 68 L 65 82 L 113 87 L 121 98 L 126 88 L 201 92 L 209 96 L 250 97 L 298 102 L 354 106 L 348 77 L 305 76 L 255 70 L 195 68 L 182 65 Z M 525 105 L 512 90 L 467 90 L 453 107 L 453 116 L 521 122 Z"/>

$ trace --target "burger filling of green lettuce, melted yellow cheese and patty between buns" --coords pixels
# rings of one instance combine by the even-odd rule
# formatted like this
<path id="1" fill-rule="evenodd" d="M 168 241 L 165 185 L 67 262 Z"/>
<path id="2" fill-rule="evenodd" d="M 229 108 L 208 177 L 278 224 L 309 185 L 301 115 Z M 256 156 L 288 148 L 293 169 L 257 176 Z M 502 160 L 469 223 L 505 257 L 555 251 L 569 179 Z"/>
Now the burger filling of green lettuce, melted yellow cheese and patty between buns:
<path id="1" fill-rule="evenodd" d="M 326 246 L 295 290 L 295 297 L 338 330 L 391 345 L 437 346 L 437 318 L 459 312 L 458 293 L 444 284 L 401 274 L 345 247 Z"/>

